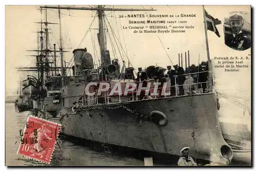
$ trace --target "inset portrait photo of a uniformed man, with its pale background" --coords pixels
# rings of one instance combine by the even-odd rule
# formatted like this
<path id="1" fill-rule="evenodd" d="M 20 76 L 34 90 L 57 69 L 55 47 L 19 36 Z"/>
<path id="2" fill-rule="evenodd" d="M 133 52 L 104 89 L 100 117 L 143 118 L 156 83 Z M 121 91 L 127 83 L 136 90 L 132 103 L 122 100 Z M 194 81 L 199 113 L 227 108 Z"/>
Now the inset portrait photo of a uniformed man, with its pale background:
<path id="1" fill-rule="evenodd" d="M 250 13 L 232 11 L 228 18 L 224 18 L 225 45 L 237 51 L 244 51 L 251 47 Z"/>

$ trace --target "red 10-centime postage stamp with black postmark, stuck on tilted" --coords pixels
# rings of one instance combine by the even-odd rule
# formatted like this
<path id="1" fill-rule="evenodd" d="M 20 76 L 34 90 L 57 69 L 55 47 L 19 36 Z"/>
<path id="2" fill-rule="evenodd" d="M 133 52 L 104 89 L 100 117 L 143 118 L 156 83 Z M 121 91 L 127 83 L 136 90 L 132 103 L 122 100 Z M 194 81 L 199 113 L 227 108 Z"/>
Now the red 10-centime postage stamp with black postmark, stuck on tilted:
<path id="1" fill-rule="evenodd" d="M 60 124 L 29 116 L 17 154 L 50 163 Z"/>

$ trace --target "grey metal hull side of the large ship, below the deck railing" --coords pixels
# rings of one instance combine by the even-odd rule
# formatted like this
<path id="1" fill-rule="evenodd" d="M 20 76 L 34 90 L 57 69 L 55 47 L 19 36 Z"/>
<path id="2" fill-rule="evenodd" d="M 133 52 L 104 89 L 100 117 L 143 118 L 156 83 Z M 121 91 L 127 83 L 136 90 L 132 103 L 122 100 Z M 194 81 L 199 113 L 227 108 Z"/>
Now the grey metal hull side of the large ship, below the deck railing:
<path id="1" fill-rule="evenodd" d="M 168 122 L 159 126 L 131 111 L 148 117 L 159 111 Z M 188 146 L 190 155 L 198 159 L 230 164 L 232 158 L 220 130 L 215 93 L 98 104 L 75 114 L 63 108 L 57 118 L 47 119 L 60 123 L 62 134 L 105 144 L 177 156 Z"/>

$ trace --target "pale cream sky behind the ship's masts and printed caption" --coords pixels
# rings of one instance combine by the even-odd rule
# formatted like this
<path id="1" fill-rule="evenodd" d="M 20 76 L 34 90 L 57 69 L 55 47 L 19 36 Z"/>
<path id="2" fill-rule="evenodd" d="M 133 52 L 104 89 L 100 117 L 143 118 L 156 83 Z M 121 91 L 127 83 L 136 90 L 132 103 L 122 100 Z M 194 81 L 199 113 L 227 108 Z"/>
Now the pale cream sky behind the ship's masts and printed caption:
<path id="1" fill-rule="evenodd" d="M 77 6 L 76 6 L 77 7 Z M 89 6 L 86 6 L 89 7 Z M 110 7 L 110 6 L 106 6 Z M 200 62 L 207 60 L 205 32 L 203 23 L 203 7 L 202 6 L 114 6 L 114 8 L 134 8 L 134 9 L 156 9 L 157 11 L 136 11 L 136 12 L 110 12 L 106 11 L 108 21 L 111 24 L 118 40 L 132 63 L 132 66 L 137 70 L 138 67 L 146 67 L 150 65 L 158 65 L 165 67 L 167 65 L 175 65 L 178 63 L 178 54 L 183 53 L 183 66 L 185 52 L 189 50 L 190 65 L 198 63 L 199 55 Z M 6 94 L 14 94 L 17 90 L 19 79 L 26 78 L 27 72 L 17 72 L 16 67 L 32 67 L 35 57 L 26 55 L 35 55 L 34 52 L 26 50 L 37 49 L 37 35 L 33 33 L 39 29 L 39 25 L 33 22 L 40 21 L 39 6 L 6 6 Z M 223 20 L 228 17 L 230 11 L 247 11 L 250 12 L 250 6 L 205 6 L 205 10 L 213 17 L 222 21 L 217 28 L 221 37 L 216 36 L 214 32 L 207 31 L 209 42 L 210 58 L 215 56 L 248 56 L 251 49 L 246 51 L 235 51 L 225 46 Z M 47 10 L 48 22 L 59 23 L 58 13 L 56 9 Z M 44 12 L 44 11 L 43 11 Z M 66 62 L 72 58 L 72 51 L 76 48 L 87 48 L 88 52 L 93 55 L 94 60 L 98 60 L 99 48 L 96 41 L 98 28 L 98 19 L 96 18 L 91 25 L 94 15 L 92 11 L 73 11 L 61 10 L 61 30 L 63 37 L 63 47 L 70 52 L 64 54 Z M 119 18 L 119 15 L 127 14 L 196 14 L 194 18 Z M 133 30 L 122 29 L 123 26 L 142 26 L 142 24 L 129 24 L 129 20 L 186 20 L 187 23 L 183 26 L 194 26 L 194 29 L 186 29 L 185 33 L 133 33 Z M 250 18 L 249 18 L 250 19 Z M 45 20 L 45 16 L 42 16 Z M 248 21 L 250 23 L 250 21 Z M 106 22 L 109 32 L 111 28 Z M 91 27 L 90 27 L 91 25 Z M 177 24 L 178 25 L 178 24 Z M 177 26 L 175 25 L 175 26 Z M 59 46 L 59 25 L 49 26 L 53 32 L 50 34 L 51 47 L 55 43 Z M 89 30 L 89 28 L 91 28 Z M 87 33 L 87 36 L 84 37 Z M 110 32 L 111 33 L 111 32 Z M 95 40 L 97 54 L 94 51 Z M 160 40 L 162 41 L 162 44 Z M 115 57 L 111 47 L 110 38 L 107 38 L 107 49 L 110 50 L 111 58 Z M 112 41 L 114 41 L 112 37 Z M 115 46 L 116 47 L 116 46 Z M 172 60 L 169 60 L 168 56 Z M 122 51 L 122 50 L 120 50 Z M 128 63 L 123 52 L 116 49 L 119 61 L 120 53 L 124 57 L 126 65 Z M 250 61 L 247 61 L 250 65 Z M 217 61 L 212 60 L 212 65 Z M 251 68 L 242 69 L 240 72 L 224 72 L 223 69 L 213 68 L 216 78 L 219 80 L 216 89 L 225 93 L 237 93 L 241 97 L 250 96 L 250 81 Z"/>

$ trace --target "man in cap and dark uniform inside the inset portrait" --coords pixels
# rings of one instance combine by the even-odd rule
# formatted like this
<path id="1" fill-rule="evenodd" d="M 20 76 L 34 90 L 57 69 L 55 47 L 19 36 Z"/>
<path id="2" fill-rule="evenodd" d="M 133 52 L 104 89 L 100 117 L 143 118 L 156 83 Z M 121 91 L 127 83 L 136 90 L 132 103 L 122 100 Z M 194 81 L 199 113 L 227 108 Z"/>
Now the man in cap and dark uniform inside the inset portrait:
<path id="1" fill-rule="evenodd" d="M 244 51 L 251 47 L 251 39 L 246 35 L 242 28 L 244 26 L 244 19 L 241 13 L 233 13 L 229 17 L 229 25 L 232 34 L 225 33 L 225 45 L 229 48 L 238 51 Z"/>

